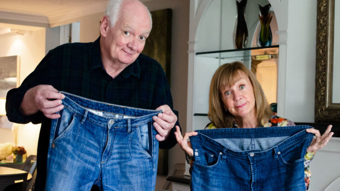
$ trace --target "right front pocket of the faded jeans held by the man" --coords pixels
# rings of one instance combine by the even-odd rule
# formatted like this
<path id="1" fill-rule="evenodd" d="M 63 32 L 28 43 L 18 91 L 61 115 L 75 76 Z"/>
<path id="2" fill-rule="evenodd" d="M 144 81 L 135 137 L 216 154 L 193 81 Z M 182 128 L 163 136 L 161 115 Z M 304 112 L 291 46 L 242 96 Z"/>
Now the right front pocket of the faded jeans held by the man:
<path id="1" fill-rule="evenodd" d="M 139 139 L 139 146 L 142 152 L 148 157 L 152 157 L 152 129 L 149 123 L 141 125 L 137 128 L 137 134 Z"/>

